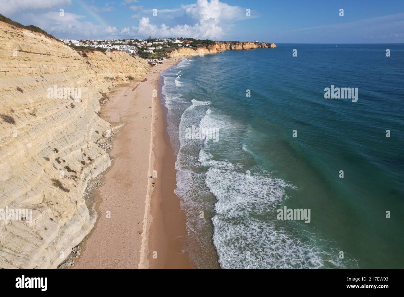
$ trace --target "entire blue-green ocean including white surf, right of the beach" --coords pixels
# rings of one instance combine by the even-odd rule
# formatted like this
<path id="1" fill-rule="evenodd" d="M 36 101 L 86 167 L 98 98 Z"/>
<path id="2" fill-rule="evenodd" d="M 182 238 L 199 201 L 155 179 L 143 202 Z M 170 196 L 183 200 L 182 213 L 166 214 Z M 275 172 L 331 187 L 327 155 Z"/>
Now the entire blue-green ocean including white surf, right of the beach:
<path id="1" fill-rule="evenodd" d="M 278 44 L 163 72 L 195 265 L 404 268 L 403 67 L 404 44 Z M 358 101 L 325 99 L 331 85 Z M 279 220 L 284 206 L 310 222 Z"/>

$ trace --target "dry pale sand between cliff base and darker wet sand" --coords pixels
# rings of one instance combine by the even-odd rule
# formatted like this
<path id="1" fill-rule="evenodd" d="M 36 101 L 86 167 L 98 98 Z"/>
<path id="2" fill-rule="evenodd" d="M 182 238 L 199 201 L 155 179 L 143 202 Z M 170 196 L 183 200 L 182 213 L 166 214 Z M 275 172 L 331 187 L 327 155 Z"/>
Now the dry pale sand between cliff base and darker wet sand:
<path id="1" fill-rule="evenodd" d="M 151 68 L 145 78 L 119 86 L 109 94 L 101 117 L 112 126 L 123 124 L 123 127 L 109 152 L 112 165 L 103 173 L 101 185 L 89 197 L 99 202 L 96 204 L 98 218 L 93 230 L 80 243 L 83 249 L 72 268 L 149 268 L 146 257 L 149 228 L 160 219 L 154 212 L 154 200 L 161 201 L 153 195 L 155 188 L 149 176 L 161 166 L 162 154 L 160 149 L 154 148 L 164 143 L 163 117 L 156 120 L 162 115 L 160 99 L 154 90 L 158 90 L 161 72 L 179 61 L 181 58 L 166 59 L 164 64 Z M 158 177 L 153 180 L 156 185 L 160 184 Z M 173 186 L 175 189 L 175 183 Z M 179 208 L 179 199 L 176 203 Z M 159 250 L 164 254 L 163 247 Z"/>

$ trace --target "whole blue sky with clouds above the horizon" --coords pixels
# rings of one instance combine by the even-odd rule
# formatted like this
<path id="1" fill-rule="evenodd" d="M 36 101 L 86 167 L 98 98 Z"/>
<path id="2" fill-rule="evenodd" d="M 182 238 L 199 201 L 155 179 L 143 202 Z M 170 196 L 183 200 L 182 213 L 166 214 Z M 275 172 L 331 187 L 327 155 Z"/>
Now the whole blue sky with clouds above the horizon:
<path id="1" fill-rule="evenodd" d="M 69 39 L 404 42 L 404 0 L 0 0 L 0 13 Z"/>

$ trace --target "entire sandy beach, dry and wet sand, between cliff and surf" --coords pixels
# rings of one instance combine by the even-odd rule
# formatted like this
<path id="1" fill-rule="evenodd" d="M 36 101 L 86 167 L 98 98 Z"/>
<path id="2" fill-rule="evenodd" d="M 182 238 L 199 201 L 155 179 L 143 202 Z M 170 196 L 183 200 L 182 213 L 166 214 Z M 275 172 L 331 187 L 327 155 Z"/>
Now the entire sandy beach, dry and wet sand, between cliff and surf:
<path id="1" fill-rule="evenodd" d="M 186 229 L 174 194 L 175 156 L 153 93 L 160 73 L 180 60 L 166 59 L 146 78 L 109 94 L 101 116 L 124 126 L 109 151 L 112 166 L 90 196 L 99 201 L 99 216 L 74 269 L 193 268 L 179 240 Z"/>

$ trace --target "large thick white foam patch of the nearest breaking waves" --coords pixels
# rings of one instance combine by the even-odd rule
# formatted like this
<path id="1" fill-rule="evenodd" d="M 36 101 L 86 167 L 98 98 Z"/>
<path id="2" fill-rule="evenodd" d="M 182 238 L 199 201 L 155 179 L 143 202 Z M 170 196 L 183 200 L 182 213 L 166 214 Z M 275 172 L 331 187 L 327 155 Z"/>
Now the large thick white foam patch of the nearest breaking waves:
<path id="1" fill-rule="evenodd" d="M 276 220 L 275 209 L 286 199 L 283 189 L 292 185 L 268 175 L 248 177 L 213 167 L 206 173 L 206 185 L 218 200 L 213 240 L 222 268 L 356 267 L 356 261 L 339 259 L 339 250 L 314 230 L 305 233 L 295 222 L 284 226 Z"/>

